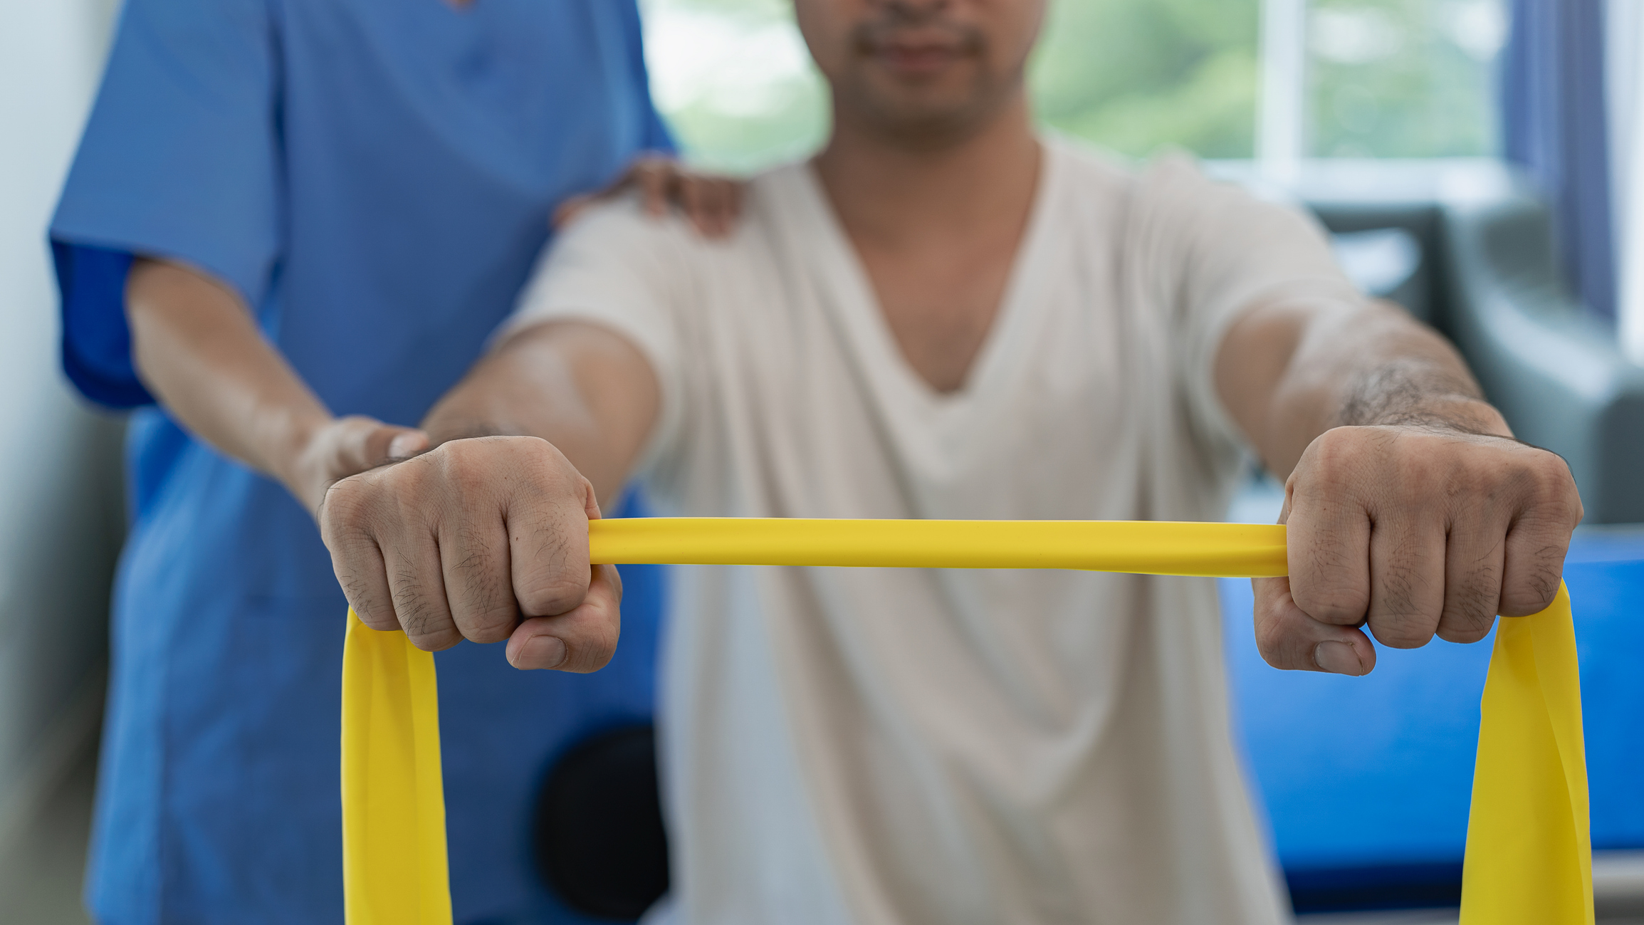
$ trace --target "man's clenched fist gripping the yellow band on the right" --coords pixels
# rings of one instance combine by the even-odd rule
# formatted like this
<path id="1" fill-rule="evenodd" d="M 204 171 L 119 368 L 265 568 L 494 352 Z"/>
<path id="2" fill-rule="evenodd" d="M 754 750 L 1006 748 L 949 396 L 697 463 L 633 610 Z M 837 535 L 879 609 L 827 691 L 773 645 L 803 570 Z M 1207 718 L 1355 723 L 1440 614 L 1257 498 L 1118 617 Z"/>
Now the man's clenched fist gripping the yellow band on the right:
<path id="1" fill-rule="evenodd" d="M 1284 486 L 1287 578 L 1258 578 L 1256 646 L 1279 669 L 1361 675 L 1384 646 L 1483 639 L 1559 591 L 1582 498 L 1565 462 L 1435 426 L 1337 427 Z"/>

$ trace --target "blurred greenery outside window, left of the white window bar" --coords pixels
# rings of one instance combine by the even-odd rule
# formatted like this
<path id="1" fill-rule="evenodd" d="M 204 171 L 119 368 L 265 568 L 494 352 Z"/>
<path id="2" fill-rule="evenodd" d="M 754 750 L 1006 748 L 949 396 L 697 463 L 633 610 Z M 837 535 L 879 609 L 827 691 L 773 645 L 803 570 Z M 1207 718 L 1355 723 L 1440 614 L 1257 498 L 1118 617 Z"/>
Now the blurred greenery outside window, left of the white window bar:
<path id="1" fill-rule="evenodd" d="M 646 0 L 658 105 L 697 163 L 751 171 L 827 133 L 789 0 Z M 1051 128 L 1126 154 L 1248 158 L 1256 0 L 1052 0 L 1031 64 Z"/>

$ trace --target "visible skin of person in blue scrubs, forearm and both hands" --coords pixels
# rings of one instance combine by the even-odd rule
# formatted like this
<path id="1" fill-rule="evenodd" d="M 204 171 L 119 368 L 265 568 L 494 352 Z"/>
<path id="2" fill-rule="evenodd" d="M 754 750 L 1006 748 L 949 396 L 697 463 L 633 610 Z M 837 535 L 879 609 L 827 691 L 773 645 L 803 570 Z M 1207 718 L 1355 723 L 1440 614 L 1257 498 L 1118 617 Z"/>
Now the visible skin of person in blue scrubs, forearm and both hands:
<path id="1" fill-rule="evenodd" d="M 682 209 L 705 237 L 728 233 L 740 207 L 740 184 L 644 154 L 607 189 L 564 202 L 554 220 L 630 189 L 653 215 Z M 413 427 L 335 417 L 263 338 L 245 301 L 204 269 L 140 258 L 125 301 L 133 361 L 150 393 L 191 432 L 276 478 L 309 511 L 339 478 L 429 447 Z"/>

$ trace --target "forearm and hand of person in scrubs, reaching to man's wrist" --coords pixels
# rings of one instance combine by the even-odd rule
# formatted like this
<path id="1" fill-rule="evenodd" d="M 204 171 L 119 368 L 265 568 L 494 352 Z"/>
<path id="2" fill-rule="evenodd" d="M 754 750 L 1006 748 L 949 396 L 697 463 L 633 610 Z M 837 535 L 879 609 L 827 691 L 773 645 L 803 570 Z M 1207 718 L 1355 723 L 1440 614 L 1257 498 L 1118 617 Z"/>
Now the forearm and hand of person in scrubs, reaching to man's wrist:
<path id="1" fill-rule="evenodd" d="M 192 434 L 279 480 L 311 513 L 326 488 L 390 455 L 404 427 L 335 419 L 225 284 L 138 260 L 127 278 L 136 375 Z M 421 439 L 409 449 L 418 449 Z"/>

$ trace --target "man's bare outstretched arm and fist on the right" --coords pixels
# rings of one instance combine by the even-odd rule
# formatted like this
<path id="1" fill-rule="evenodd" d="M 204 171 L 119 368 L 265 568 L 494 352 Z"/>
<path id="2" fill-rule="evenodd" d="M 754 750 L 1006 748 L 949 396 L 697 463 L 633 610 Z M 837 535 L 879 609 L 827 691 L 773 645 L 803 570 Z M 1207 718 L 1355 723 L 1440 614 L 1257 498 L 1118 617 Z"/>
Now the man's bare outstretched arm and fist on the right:
<path id="1" fill-rule="evenodd" d="M 1394 306 L 1245 312 L 1217 391 L 1286 478 L 1289 578 L 1256 587 L 1281 669 L 1366 674 L 1374 649 L 1473 642 L 1552 603 L 1582 501 L 1557 455 L 1512 439 L 1462 357 Z"/>

